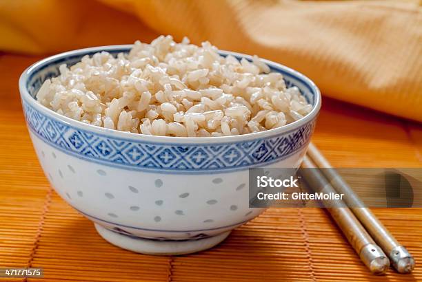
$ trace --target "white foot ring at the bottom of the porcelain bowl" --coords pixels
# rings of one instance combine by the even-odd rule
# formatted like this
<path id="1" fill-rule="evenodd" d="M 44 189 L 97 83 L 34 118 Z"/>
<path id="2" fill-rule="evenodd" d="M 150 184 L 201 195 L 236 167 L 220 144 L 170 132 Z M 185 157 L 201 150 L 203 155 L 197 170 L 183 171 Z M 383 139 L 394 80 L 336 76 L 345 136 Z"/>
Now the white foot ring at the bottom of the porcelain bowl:
<path id="1" fill-rule="evenodd" d="M 99 224 L 94 224 L 95 229 L 103 239 L 109 243 L 120 248 L 131 250 L 133 252 L 140 252 L 142 254 L 158 254 L 158 255 L 172 255 L 172 254 L 191 254 L 192 252 L 199 252 L 216 246 L 221 243 L 231 231 L 223 232 L 219 235 L 195 239 L 195 240 L 154 240 L 140 237 L 131 237 L 128 235 L 114 232 Z"/>

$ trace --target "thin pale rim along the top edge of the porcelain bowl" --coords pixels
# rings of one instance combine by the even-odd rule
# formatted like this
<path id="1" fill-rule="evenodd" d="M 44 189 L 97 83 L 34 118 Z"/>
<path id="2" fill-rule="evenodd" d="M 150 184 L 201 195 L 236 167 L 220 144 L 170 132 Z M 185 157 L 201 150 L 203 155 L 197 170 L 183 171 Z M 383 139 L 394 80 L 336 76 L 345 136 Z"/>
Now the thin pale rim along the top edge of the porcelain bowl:
<path id="1" fill-rule="evenodd" d="M 265 138 L 271 138 L 277 135 L 281 135 L 282 133 L 288 133 L 291 131 L 294 131 L 296 129 L 299 129 L 305 124 L 308 124 L 309 122 L 312 122 L 318 116 L 319 110 L 321 109 L 321 92 L 319 91 L 319 88 L 316 87 L 315 83 L 310 80 L 307 76 L 301 74 L 300 72 L 297 72 L 294 69 L 291 69 L 290 67 L 286 67 L 285 65 L 281 65 L 279 63 L 275 63 L 273 61 L 267 60 L 265 58 L 260 58 L 263 63 L 266 63 L 267 65 L 270 65 L 272 68 L 276 69 L 282 69 L 284 72 L 289 73 L 291 76 L 295 76 L 303 81 L 303 83 L 307 84 L 310 89 L 314 92 L 314 105 L 312 105 L 312 110 L 308 115 L 301 118 L 300 120 L 296 120 L 290 124 L 286 124 L 283 127 L 277 127 L 276 129 L 268 129 L 261 132 L 256 133 L 248 133 L 243 135 L 232 135 L 232 136 L 218 136 L 218 137 L 177 137 L 177 136 L 159 136 L 159 135 L 145 135 L 141 133 L 131 133 L 131 132 L 125 132 L 125 131 L 118 131 L 117 129 L 106 129 L 104 127 L 97 127 L 92 124 L 86 124 L 79 120 L 74 120 L 72 118 L 68 118 L 66 116 L 63 116 L 56 111 L 53 111 L 52 109 L 48 109 L 47 107 L 41 105 L 37 100 L 35 100 L 34 97 L 32 97 L 28 91 L 28 88 L 26 87 L 26 84 L 28 83 L 28 78 L 32 75 L 38 72 L 39 68 L 44 67 L 46 65 L 50 65 L 50 63 L 57 61 L 59 59 L 63 59 L 69 56 L 83 56 L 84 54 L 90 54 L 93 52 L 116 52 L 121 51 L 125 52 L 128 49 L 130 50 L 133 47 L 133 44 L 128 45 L 106 45 L 106 46 L 99 46 L 99 47 L 89 47 L 89 48 L 83 48 L 79 50 L 72 50 L 68 52 L 63 52 L 60 54 L 56 54 L 54 56 L 49 56 L 47 58 L 43 58 L 40 61 L 37 61 L 36 63 L 30 65 L 28 68 L 26 68 L 20 78 L 19 78 L 19 92 L 21 94 L 21 99 L 25 102 L 28 102 L 28 104 L 37 109 L 38 111 L 41 111 L 46 116 L 49 116 L 50 118 L 54 120 L 60 120 L 64 124 L 66 124 L 69 127 L 72 127 L 74 129 L 81 129 L 83 131 L 91 131 L 100 135 L 105 135 L 110 138 L 119 138 L 123 140 L 132 140 L 132 141 L 141 141 L 141 142 L 149 142 L 149 143 L 164 143 L 164 144 L 215 144 L 215 143 L 235 143 L 235 142 L 245 142 L 250 140 L 260 140 Z M 219 54 L 223 55 L 232 55 L 237 57 L 243 57 L 247 58 L 248 60 L 252 60 L 252 56 L 247 54 L 241 54 L 238 52 L 230 52 L 225 50 L 219 50 Z M 23 108 L 23 111 L 25 109 Z"/>

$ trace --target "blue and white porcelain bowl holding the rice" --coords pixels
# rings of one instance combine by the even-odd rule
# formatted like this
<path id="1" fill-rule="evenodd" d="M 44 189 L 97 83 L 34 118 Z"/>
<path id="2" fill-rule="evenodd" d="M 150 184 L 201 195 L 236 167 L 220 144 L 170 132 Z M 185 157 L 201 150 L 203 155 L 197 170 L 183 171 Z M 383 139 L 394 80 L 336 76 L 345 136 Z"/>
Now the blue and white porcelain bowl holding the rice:
<path id="1" fill-rule="evenodd" d="M 146 254 L 211 248 L 263 212 L 250 208 L 248 169 L 299 167 L 321 107 L 319 89 L 299 72 L 265 61 L 312 111 L 277 129 L 246 135 L 179 138 L 95 127 L 61 116 L 34 96 L 44 80 L 85 55 L 117 55 L 132 45 L 75 50 L 28 67 L 19 90 L 30 138 L 46 177 L 110 243 Z M 234 52 L 237 58 L 250 56 Z"/>

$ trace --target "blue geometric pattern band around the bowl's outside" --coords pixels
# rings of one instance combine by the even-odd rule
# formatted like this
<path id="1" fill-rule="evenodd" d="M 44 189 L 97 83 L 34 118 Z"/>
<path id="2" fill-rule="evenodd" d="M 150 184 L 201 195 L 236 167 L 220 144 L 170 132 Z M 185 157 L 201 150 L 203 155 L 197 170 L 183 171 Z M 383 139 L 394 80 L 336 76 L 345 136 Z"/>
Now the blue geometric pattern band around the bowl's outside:
<path id="1" fill-rule="evenodd" d="M 137 171 L 216 173 L 265 166 L 308 144 L 314 121 L 272 138 L 222 144 L 159 144 L 110 137 L 53 120 L 22 100 L 31 131 L 77 158 Z"/>

